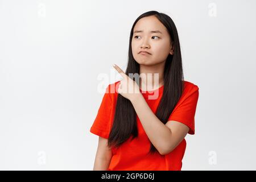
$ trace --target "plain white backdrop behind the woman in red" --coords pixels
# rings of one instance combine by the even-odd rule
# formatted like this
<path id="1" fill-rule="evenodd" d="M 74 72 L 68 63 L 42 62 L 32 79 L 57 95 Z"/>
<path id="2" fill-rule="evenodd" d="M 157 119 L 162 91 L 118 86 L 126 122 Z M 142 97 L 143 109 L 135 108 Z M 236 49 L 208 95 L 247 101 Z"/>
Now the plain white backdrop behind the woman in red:
<path id="1" fill-rule="evenodd" d="M 0 0 L 0 169 L 92 170 L 98 76 L 126 68 L 135 19 L 174 20 L 199 86 L 182 170 L 255 170 L 256 1 Z"/>

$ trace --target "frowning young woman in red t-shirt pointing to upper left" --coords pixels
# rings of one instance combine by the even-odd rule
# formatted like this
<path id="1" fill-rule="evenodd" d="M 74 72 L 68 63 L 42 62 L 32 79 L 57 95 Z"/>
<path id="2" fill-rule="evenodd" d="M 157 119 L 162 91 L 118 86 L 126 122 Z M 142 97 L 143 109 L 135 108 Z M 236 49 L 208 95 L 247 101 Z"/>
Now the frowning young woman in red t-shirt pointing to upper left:
<path id="1" fill-rule="evenodd" d="M 170 16 L 157 11 L 139 16 L 130 32 L 126 72 L 114 68 L 123 79 L 108 85 L 90 128 L 99 136 L 93 169 L 181 170 L 184 138 L 195 134 L 199 88 L 184 81 L 179 37 Z M 129 73 L 137 73 L 139 82 Z M 158 79 L 148 83 L 154 75 Z"/>

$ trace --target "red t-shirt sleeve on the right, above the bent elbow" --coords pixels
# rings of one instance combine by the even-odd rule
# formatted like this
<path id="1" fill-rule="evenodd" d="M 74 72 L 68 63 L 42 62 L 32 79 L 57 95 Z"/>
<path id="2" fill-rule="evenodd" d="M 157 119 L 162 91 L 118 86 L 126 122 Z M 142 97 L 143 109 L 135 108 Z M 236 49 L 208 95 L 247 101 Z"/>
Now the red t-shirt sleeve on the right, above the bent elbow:
<path id="1" fill-rule="evenodd" d="M 197 100 L 199 98 L 199 88 L 194 85 L 184 96 L 177 102 L 174 110 L 167 121 L 177 121 L 189 127 L 188 134 L 195 134 L 195 113 Z"/>

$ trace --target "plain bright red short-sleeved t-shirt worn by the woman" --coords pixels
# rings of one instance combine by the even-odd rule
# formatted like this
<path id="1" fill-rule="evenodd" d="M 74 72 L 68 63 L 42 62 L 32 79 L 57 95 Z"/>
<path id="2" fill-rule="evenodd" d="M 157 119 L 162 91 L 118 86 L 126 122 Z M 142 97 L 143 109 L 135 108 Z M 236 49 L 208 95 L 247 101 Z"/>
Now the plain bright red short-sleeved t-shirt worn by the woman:
<path id="1" fill-rule="evenodd" d="M 103 138 L 109 138 L 111 126 L 113 124 L 115 114 L 115 104 L 117 102 L 118 88 L 120 81 L 109 84 L 106 88 L 104 97 L 96 119 L 90 132 Z M 114 88 L 114 93 L 113 93 Z M 115 89 L 116 88 L 116 89 Z M 142 92 L 148 106 L 156 114 L 156 109 L 162 98 L 164 86 L 161 86 L 154 92 Z M 110 92 L 111 91 L 111 92 Z M 159 93 L 158 98 L 152 100 L 152 95 L 155 92 Z M 148 99 L 151 96 L 151 99 Z M 172 111 L 167 121 L 174 120 L 181 122 L 189 127 L 188 134 L 195 134 L 195 112 L 197 100 L 199 97 L 199 88 L 191 82 L 184 81 L 184 92 L 181 95 L 179 102 Z M 148 139 L 141 121 L 137 115 L 138 138 L 131 140 L 131 137 L 126 140 L 119 148 L 113 148 L 113 156 L 109 164 L 109 171 L 180 171 L 182 167 L 181 160 L 183 159 L 186 141 L 183 139 L 180 144 L 169 154 L 160 155 L 158 152 L 152 155 L 147 155 L 150 150 L 150 140 Z"/>

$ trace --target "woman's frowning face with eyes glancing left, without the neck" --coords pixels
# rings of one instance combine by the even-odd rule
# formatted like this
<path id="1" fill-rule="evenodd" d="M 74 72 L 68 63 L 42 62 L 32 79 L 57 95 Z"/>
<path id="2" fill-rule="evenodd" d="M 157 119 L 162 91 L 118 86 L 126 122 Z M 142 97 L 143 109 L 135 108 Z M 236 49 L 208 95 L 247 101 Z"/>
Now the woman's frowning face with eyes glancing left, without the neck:
<path id="1" fill-rule="evenodd" d="M 173 55 L 174 53 L 171 37 L 166 27 L 155 16 L 141 18 L 135 24 L 131 49 L 134 59 L 141 65 L 162 63 L 166 61 L 169 54 Z M 150 54 L 139 53 L 140 51 L 146 51 Z"/>

